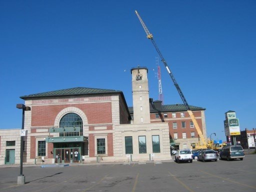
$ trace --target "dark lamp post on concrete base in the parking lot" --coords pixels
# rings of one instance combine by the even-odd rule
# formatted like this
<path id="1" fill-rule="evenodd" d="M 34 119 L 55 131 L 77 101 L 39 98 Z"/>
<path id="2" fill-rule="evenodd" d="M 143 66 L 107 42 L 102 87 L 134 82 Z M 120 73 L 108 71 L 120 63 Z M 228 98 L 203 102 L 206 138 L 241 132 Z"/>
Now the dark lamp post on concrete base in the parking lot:
<path id="1" fill-rule="evenodd" d="M 24 129 L 24 118 L 25 118 L 25 110 L 31 110 L 29 106 L 25 106 L 24 104 L 16 104 L 16 108 L 22 109 L 22 125 L 21 130 Z M 20 171 L 17 179 L 17 184 L 25 184 L 25 176 L 22 173 L 23 169 L 23 136 L 20 135 Z"/>

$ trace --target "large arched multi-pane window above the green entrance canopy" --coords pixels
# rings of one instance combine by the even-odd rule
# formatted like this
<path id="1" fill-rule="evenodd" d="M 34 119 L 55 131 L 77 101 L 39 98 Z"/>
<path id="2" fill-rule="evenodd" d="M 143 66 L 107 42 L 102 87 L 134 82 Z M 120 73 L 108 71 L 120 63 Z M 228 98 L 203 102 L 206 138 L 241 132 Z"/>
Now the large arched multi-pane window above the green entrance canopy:
<path id="1" fill-rule="evenodd" d="M 65 114 L 59 121 L 59 127 L 67 128 L 72 127 L 76 131 L 73 132 L 60 132 L 59 136 L 82 136 L 82 119 L 73 112 Z"/>

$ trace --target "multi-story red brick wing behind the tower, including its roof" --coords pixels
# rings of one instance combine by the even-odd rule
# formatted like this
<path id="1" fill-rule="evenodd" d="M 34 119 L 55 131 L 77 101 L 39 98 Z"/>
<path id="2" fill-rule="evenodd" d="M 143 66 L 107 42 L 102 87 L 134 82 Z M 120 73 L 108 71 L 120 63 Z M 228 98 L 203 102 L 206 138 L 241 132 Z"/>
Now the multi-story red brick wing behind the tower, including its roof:
<path id="1" fill-rule="evenodd" d="M 206 138 L 205 108 L 190 106 L 201 132 Z M 133 107 L 129 107 L 133 117 Z M 150 105 L 150 122 L 168 122 L 170 142 L 175 143 L 176 148 L 193 148 L 198 142 L 198 133 L 189 117 L 184 104 L 162 105 L 160 100 L 153 101 Z"/>

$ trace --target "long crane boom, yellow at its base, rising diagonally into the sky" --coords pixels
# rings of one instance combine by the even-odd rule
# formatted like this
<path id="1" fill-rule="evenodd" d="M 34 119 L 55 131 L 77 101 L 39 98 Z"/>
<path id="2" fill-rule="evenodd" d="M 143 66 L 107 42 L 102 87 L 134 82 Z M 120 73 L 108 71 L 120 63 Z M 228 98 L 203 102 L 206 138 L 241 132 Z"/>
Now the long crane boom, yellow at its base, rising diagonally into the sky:
<path id="1" fill-rule="evenodd" d="M 153 35 L 149 32 L 149 30 L 147 29 L 145 23 L 143 22 L 143 20 L 141 19 L 141 17 L 139 16 L 139 14 L 138 14 L 138 12 L 137 12 L 136 10 L 135 10 L 135 13 L 136 13 L 136 15 L 137 15 L 137 17 L 138 17 L 138 19 L 139 19 L 139 21 L 140 21 L 142 27 L 144 28 L 144 30 L 145 30 L 145 32 L 146 32 L 146 37 L 151 40 L 151 42 L 152 42 L 153 45 L 154 45 L 154 48 L 156 49 L 158 55 L 160 56 L 162 63 L 164 64 L 164 66 L 165 66 L 167 72 L 169 73 L 169 75 L 170 75 L 170 77 L 171 77 L 171 79 L 172 79 L 172 81 L 173 81 L 173 83 L 174 83 L 174 86 L 176 87 L 176 89 L 177 89 L 177 91 L 178 91 L 178 94 L 179 94 L 179 96 L 181 97 L 181 99 L 182 99 L 182 101 L 183 101 L 183 103 L 184 103 L 184 105 L 185 105 L 185 107 L 186 107 L 186 109 L 187 109 L 187 112 L 188 112 L 189 116 L 191 117 L 191 120 L 192 120 L 192 122 L 193 122 L 193 124 L 194 124 L 194 127 L 196 128 L 196 131 L 197 131 L 199 137 L 200 137 L 201 140 L 202 140 L 203 145 L 206 147 L 206 146 L 207 146 L 207 143 L 206 143 L 205 138 L 204 138 L 204 136 L 203 136 L 203 134 L 202 134 L 202 131 L 201 131 L 201 129 L 199 128 L 199 125 L 198 125 L 198 123 L 197 123 L 197 121 L 196 121 L 196 119 L 195 119 L 195 117 L 194 117 L 194 114 L 193 114 L 193 112 L 191 111 L 190 106 L 188 105 L 188 103 L 187 103 L 187 101 L 186 101 L 186 99 L 185 99 L 185 97 L 184 97 L 184 95 L 183 95 L 181 89 L 179 88 L 178 83 L 177 83 L 177 81 L 175 80 L 175 78 L 174 78 L 174 76 L 173 76 L 173 74 L 172 74 L 170 68 L 168 67 L 167 62 L 166 62 L 165 59 L 163 58 L 163 56 L 162 56 L 162 54 L 161 54 L 161 52 L 160 52 L 158 46 L 156 45 L 156 43 L 155 43 L 155 41 L 154 41 L 154 39 L 153 39 Z"/>

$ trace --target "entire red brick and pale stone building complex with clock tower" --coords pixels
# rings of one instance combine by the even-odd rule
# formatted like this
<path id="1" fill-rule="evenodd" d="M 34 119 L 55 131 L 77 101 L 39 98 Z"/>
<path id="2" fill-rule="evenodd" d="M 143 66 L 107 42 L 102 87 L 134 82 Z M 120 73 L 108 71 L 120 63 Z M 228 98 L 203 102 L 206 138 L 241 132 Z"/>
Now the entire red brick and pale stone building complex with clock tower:
<path id="1" fill-rule="evenodd" d="M 170 138 L 191 148 L 198 136 L 182 104 L 149 99 L 147 68 L 131 69 L 133 107 L 122 91 L 75 87 L 20 96 L 25 111 L 24 163 L 170 158 Z M 206 137 L 204 108 L 191 106 Z M 19 163 L 19 129 L 0 130 L 0 164 Z M 131 155 L 130 155 L 131 154 Z"/>

